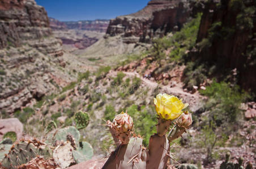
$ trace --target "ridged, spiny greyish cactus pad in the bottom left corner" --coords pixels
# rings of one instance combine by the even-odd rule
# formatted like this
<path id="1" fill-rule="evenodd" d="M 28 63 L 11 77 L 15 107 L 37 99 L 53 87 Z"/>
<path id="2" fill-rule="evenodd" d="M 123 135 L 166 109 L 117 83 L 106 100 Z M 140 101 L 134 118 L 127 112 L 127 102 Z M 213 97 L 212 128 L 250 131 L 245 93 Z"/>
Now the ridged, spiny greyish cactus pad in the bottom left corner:
<path id="1" fill-rule="evenodd" d="M 49 155 L 45 143 L 39 140 L 20 140 L 18 143 L 11 146 L 9 153 L 5 154 L 2 161 L 2 166 L 5 168 L 16 168 L 21 164 L 29 162 L 37 155 Z"/>

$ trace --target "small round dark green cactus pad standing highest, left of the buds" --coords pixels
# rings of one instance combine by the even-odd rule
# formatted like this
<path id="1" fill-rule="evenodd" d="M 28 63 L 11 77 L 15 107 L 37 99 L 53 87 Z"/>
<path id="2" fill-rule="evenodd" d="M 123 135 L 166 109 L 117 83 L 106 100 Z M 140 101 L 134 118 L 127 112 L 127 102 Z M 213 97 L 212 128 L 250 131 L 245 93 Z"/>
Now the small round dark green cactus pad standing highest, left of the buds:
<path id="1" fill-rule="evenodd" d="M 86 128 L 89 124 L 89 115 L 86 112 L 78 112 L 75 114 L 75 127 L 80 130 Z"/>

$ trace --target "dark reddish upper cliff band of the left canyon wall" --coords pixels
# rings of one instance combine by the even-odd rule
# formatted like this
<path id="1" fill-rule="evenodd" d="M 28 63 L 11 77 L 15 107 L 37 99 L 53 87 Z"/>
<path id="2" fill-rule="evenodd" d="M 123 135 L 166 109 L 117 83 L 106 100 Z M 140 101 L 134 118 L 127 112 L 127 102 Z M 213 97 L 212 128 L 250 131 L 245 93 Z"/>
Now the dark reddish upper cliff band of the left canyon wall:
<path id="1" fill-rule="evenodd" d="M 0 48 L 33 44 L 33 40 L 49 37 L 52 32 L 44 7 L 34 0 L 0 2 Z M 48 49 L 53 55 L 62 55 L 61 42 L 50 39 Z M 42 46 L 37 44 L 39 47 Z M 45 42 L 44 42 L 45 45 Z M 43 46 L 45 47 L 45 46 Z"/>

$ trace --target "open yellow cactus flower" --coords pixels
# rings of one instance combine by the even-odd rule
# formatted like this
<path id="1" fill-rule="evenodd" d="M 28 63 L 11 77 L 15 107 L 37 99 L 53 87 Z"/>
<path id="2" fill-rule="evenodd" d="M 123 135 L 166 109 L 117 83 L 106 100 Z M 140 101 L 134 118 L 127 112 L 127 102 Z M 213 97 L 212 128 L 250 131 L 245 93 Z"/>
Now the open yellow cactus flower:
<path id="1" fill-rule="evenodd" d="M 154 98 L 156 112 L 160 118 L 166 120 L 174 120 L 182 114 L 182 109 L 185 109 L 189 104 L 182 103 L 182 99 L 168 94 L 158 94 Z"/>

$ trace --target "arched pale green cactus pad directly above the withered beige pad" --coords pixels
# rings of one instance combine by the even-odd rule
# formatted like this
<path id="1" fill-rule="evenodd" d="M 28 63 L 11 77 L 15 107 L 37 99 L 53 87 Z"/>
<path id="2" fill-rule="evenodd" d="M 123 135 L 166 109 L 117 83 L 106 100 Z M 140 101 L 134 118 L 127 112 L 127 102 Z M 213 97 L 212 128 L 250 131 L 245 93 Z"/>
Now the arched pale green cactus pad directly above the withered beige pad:
<path id="1" fill-rule="evenodd" d="M 55 140 L 66 141 L 67 135 L 72 135 L 75 139 L 75 143 L 76 144 L 79 143 L 80 132 L 73 126 L 68 126 L 68 127 L 59 129 L 55 135 Z"/>

